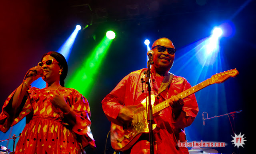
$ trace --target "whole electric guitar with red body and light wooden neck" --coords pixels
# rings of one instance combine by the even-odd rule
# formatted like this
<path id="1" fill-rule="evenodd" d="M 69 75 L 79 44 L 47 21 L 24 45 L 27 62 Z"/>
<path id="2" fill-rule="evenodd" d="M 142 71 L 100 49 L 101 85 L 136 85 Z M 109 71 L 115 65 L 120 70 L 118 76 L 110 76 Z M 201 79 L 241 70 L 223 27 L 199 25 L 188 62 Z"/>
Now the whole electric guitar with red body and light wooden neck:
<path id="1" fill-rule="evenodd" d="M 222 83 L 226 81 L 230 77 L 235 77 L 238 75 L 238 70 L 228 70 L 225 72 L 221 72 L 218 74 L 213 75 L 211 78 L 193 86 L 180 94 L 177 94 L 177 97 L 181 97 L 182 99 L 198 92 L 199 90 L 215 83 Z M 147 120 L 147 113 L 146 113 L 146 99 L 145 98 L 139 105 L 130 105 L 126 106 L 130 108 L 133 113 L 132 123 L 125 128 L 121 123 L 111 123 L 111 146 L 115 150 L 118 151 L 125 151 L 128 150 L 142 135 L 142 133 L 149 133 L 148 128 L 148 120 Z M 151 104 L 155 101 L 154 95 L 151 95 Z M 170 106 L 170 99 L 167 99 L 161 103 L 152 107 L 152 114 L 158 113 L 162 109 Z M 153 124 L 153 130 L 156 128 L 156 124 Z"/>

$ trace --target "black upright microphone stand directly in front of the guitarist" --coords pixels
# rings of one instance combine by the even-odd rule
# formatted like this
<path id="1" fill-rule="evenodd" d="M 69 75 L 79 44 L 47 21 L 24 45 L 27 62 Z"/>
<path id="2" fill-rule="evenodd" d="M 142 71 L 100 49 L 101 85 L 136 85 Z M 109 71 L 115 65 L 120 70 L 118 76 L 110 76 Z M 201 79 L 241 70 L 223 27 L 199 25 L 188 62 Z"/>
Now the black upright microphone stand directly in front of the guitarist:
<path id="1" fill-rule="evenodd" d="M 150 86 L 150 66 L 153 64 L 153 59 L 150 55 L 148 57 L 148 70 L 146 72 L 146 84 L 148 84 L 148 129 L 149 129 L 149 142 L 150 142 L 150 154 L 154 154 L 154 141 L 153 141 L 153 112 L 151 105 L 151 86 Z"/>

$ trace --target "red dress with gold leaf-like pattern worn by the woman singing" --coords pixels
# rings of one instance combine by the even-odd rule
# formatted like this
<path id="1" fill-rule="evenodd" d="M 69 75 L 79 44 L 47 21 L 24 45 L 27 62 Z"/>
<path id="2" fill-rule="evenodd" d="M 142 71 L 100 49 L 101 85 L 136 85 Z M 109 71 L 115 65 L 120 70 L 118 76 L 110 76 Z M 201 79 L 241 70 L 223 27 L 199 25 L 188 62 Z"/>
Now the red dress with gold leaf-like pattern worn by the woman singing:
<path id="1" fill-rule="evenodd" d="M 14 91 L 15 92 L 15 91 Z M 13 116 L 12 97 L 6 99 L 0 114 L 0 130 L 8 129 L 26 117 L 26 126 L 16 144 L 18 154 L 80 154 L 82 147 L 95 146 L 90 131 L 90 107 L 87 99 L 73 88 L 64 88 L 60 93 L 76 113 L 74 127 L 68 125 L 63 112 L 52 105 L 52 97 L 46 89 L 31 88 L 29 97 L 22 100 L 23 107 Z"/>

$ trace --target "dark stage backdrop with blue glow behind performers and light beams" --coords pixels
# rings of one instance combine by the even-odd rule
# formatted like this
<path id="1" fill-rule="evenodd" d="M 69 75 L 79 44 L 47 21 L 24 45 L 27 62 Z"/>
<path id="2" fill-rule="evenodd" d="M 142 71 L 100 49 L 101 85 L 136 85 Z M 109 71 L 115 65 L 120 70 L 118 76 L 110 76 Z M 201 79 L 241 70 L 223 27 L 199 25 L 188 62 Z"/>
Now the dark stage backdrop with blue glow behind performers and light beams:
<path id="1" fill-rule="evenodd" d="M 244 147 L 238 149 L 240 154 L 253 153 L 255 8 L 254 0 L 3 1 L 0 6 L 0 104 L 4 104 L 8 95 L 22 83 L 26 71 L 36 66 L 44 53 L 57 51 L 62 46 L 77 23 L 89 26 L 79 31 L 76 37 L 68 60 L 66 80 L 79 68 L 106 31 L 112 29 L 116 38 L 95 76 L 90 94 L 84 94 L 90 103 L 91 129 L 97 146 L 96 150 L 88 150 L 88 153 L 102 154 L 110 130 L 110 122 L 102 111 L 102 99 L 128 73 L 146 67 L 145 39 L 149 39 L 152 45 L 154 40 L 168 37 L 178 49 L 176 59 L 179 61 L 174 61 L 174 74 L 184 76 L 192 86 L 220 71 L 233 68 L 239 71 L 236 78 L 227 80 L 221 86 L 209 86 L 196 94 L 200 111 L 194 123 L 186 128 L 188 142 L 225 142 L 226 147 L 216 148 L 219 153 L 237 154 L 237 147 L 231 142 L 234 134 L 228 117 L 206 121 L 206 126 L 203 126 L 202 113 L 206 111 L 209 117 L 213 117 L 242 110 L 235 115 L 235 131 L 236 134 L 244 134 L 246 141 Z M 220 40 L 224 66 L 218 67 L 223 70 L 217 69 L 218 72 L 200 76 L 198 67 L 189 61 L 197 59 L 182 57 L 181 54 L 186 51 L 179 52 L 179 49 L 184 50 L 186 46 L 208 37 L 215 25 L 227 20 L 234 24 L 235 31 L 234 35 Z M 183 64 L 189 69 L 182 67 Z M 198 82 L 192 82 L 195 78 Z M 212 88 L 218 90 L 211 91 Z M 218 97 L 218 102 L 209 101 L 212 97 Z M 108 138 L 106 153 L 113 152 Z"/>

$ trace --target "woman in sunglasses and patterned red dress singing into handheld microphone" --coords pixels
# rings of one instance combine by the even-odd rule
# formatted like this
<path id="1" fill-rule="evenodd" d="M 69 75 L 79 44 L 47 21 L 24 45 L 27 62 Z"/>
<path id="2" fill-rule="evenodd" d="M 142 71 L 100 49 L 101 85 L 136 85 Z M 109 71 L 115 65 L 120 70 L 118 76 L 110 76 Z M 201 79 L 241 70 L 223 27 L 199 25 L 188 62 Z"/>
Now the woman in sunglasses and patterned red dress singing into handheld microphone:
<path id="1" fill-rule="evenodd" d="M 50 51 L 6 99 L 0 114 L 2 132 L 26 117 L 15 153 L 80 154 L 88 145 L 96 147 L 90 131 L 89 103 L 77 90 L 64 87 L 67 72 L 63 55 Z M 39 77 L 46 87 L 31 88 Z"/>

